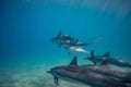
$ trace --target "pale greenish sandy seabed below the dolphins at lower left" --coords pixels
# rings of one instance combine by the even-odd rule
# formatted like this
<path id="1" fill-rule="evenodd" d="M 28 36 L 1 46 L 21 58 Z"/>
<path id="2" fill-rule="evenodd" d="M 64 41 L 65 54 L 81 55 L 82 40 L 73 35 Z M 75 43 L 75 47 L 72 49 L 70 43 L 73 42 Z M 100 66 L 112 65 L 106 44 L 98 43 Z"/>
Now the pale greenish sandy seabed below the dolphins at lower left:
<path id="1" fill-rule="evenodd" d="M 59 86 L 53 83 L 53 77 L 48 74 L 49 65 L 27 65 L 0 70 L 0 87 L 90 87 L 76 83 L 59 80 Z"/>

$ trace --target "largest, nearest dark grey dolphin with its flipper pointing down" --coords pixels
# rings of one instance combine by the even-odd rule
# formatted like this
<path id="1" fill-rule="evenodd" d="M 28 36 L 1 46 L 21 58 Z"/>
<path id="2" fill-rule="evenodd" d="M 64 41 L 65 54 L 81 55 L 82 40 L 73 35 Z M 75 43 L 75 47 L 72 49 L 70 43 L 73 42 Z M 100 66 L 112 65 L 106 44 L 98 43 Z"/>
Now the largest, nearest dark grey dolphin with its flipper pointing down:
<path id="1" fill-rule="evenodd" d="M 92 87 L 128 87 L 126 84 L 114 78 L 106 77 L 102 74 L 85 71 L 78 65 L 76 57 L 73 58 L 69 65 L 61 65 L 52 67 L 47 71 L 52 74 L 53 82 L 59 85 L 59 78 L 68 82 L 76 82 Z"/>

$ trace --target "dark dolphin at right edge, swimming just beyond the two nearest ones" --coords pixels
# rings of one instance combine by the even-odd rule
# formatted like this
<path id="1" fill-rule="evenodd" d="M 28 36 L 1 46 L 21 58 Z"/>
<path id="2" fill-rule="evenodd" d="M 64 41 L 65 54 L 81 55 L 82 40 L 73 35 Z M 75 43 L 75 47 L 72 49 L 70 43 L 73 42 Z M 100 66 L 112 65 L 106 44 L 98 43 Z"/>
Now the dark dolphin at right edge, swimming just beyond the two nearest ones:
<path id="1" fill-rule="evenodd" d="M 122 61 L 122 60 L 119 60 L 119 59 L 116 59 L 116 58 L 111 58 L 109 55 L 109 52 L 107 52 L 107 53 L 105 53 L 103 55 L 94 55 L 94 52 L 95 52 L 95 50 L 92 50 L 91 51 L 91 57 L 86 58 L 85 60 L 90 60 L 90 61 L 93 61 L 94 63 L 98 63 L 98 62 L 104 61 L 105 57 L 108 57 L 108 62 L 110 64 L 122 66 L 122 67 L 131 67 L 130 62 L 126 62 L 126 61 Z"/>

